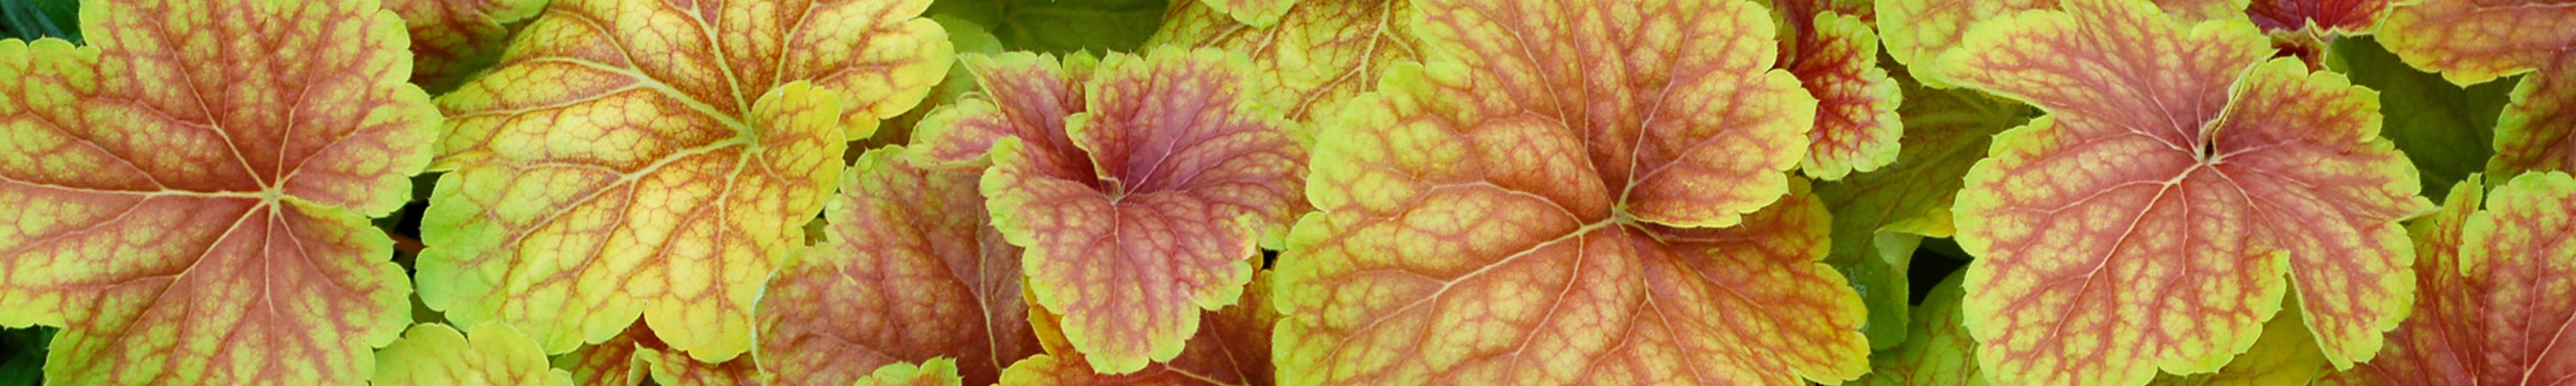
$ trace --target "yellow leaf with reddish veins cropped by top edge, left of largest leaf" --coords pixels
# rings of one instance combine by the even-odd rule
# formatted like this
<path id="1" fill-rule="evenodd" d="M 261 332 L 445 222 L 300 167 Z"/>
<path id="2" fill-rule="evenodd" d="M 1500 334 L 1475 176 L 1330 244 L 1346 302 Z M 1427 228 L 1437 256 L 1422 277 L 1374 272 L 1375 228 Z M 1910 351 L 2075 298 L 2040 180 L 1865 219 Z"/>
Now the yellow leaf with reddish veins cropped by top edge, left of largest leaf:
<path id="1" fill-rule="evenodd" d="M 1164 15 L 1146 46 L 1180 44 L 1247 51 L 1262 77 L 1262 103 L 1291 121 L 1316 124 L 1324 106 L 1368 93 L 1386 67 L 1419 59 L 1401 31 L 1412 0 L 1303 0 L 1275 26 L 1244 26 L 1208 5 L 1182 3 Z"/>

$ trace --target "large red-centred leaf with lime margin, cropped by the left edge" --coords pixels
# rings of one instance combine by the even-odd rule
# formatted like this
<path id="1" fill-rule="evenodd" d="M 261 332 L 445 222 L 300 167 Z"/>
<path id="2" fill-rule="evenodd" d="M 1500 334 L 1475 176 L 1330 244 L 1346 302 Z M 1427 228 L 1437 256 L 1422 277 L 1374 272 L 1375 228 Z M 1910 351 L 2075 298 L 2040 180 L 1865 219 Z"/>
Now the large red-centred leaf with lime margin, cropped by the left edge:
<path id="1" fill-rule="evenodd" d="M 366 224 L 438 111 L 374 0 L 95 0 L 0 39 L 0 327 L 54 383 L 358 383 L 410 324 Z"/>

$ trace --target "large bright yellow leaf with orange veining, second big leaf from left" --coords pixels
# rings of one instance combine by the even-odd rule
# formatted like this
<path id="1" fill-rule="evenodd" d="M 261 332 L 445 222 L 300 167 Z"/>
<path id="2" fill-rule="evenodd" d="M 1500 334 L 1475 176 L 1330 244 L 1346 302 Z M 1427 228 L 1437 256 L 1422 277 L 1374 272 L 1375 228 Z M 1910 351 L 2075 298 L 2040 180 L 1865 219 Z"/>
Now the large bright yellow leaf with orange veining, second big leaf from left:
<path id="1" fill-rule="evenodd" d="M 752 301 L 804 247 L 842 139 L 948 69 L 927 0 L 556 0 L 451 116 L 420 293 L 549 353 L 641 314 L 672 350 L 752 347 Z"/>

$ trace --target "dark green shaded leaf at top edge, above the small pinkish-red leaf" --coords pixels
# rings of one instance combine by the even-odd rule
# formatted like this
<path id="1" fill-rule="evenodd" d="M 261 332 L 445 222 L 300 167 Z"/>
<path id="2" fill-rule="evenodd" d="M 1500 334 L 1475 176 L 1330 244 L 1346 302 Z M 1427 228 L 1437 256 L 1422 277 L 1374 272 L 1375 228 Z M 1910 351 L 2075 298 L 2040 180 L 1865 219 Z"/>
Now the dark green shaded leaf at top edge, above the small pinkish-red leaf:
<path id="1" fill-rule="evenodd" d="M 927 15 L 974 21 L 1018 51 L 1139 51 L 1154 26 L 1162 26 L 1167 3 L 1172 0 L 938 0 Z"/>

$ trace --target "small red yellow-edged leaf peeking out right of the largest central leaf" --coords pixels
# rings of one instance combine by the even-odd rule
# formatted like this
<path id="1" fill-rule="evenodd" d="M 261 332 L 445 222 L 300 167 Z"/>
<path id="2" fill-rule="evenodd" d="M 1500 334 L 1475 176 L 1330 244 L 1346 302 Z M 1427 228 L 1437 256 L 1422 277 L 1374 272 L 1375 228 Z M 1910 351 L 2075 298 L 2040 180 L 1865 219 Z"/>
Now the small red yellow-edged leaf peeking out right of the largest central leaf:
<path id="1" fill-rule="evenodd" d="M 1878 31 L 1868 18 L 1826 10 L 1824 0 L 1783 0 L 1780 13 L 1790 26 L 1783 39 L 1780 67 L 1798 75 L 1798 82 L 1816 95 L 1816 129 L 1806 160 L 1798 162 L 1808 178 L 1842 180 L 1850 172 L 1868 172 L 1896 162 L 1904 121 L 1896 108 L 1904 93 L 1888 69 L 1878 67 Z"/>

